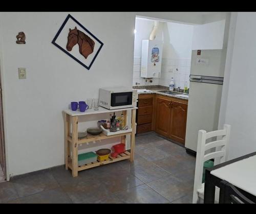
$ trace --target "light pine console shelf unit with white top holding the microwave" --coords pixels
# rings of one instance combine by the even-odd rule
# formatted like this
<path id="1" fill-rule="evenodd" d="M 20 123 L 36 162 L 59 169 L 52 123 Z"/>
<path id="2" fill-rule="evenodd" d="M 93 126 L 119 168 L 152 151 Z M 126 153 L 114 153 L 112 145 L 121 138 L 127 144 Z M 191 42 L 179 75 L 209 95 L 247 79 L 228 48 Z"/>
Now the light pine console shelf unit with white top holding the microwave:
<path id="1" fill-rule="evenodd" d="M 66 170 L 71 169 L 72 176 L 76 177 L 78 175 L 78 171 L 81 171 L 81 170 L 87 170 L 93 167 L 98 167 L 99 165 L 113 163 L 113 162 L 124 160 L 124 159 L 130 159 L 130 161 L 133 161 L 134 147 L 135 147 L 135 133 L 136 133 L 136 123 L 135 123 L 136 109 L 137 107 L 108 110 L 108 109 L 99 107 L 99 110 L 88 109 L 85 112 L 72 111 L 70 109 L 64 110 L 66 115 L 66 125 L 65 125 Z M 106 136 L 103 133 L 99 135 L 88 134 L 87 137 L 78 139 L 78 117 L 79 116 L 122 111 L 124 115 L 124 121 L 126 124 L 128 110 L 132 110 L 132 131 L 131 132 L 126 132 L 121 134 L 118 134 L 117 132 L 117 134 L 110 135 L 110 136 Z M 71 133 L 71 130 L 72 130 L 72 133 Z M 95 162 L 81 165 L 78 167 L 78 144 L 84 144 L 84 143 L 93 142 L 96 140 L 108 139 L 113 137 L 121 137 L 121 141 L 125 143 L 126 135 L 131 135 L 131 151 L 130 152 L 126 151 L 124 153 L 120 153 L 116 158 L 110 156 L 109 159 L 107 160 L 104 160 L 104 161 L 97 160 Z M 72 158 L 71 158 L 71 150 L 72 150 Z"/>

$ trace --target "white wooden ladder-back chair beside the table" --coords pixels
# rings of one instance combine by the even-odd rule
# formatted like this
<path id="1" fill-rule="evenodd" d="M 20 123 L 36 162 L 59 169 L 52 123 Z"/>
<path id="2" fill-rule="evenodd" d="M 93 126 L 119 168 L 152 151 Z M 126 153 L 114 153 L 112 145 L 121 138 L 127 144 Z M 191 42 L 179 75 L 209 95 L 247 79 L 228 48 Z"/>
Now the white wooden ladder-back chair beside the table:
<path id="1" fill-rule="evenodd" d="M 217 131 L 198 131 L 193 203 L 200 203 L 204 199 L 204 183 L 202 183 L 204 162 L 214 159 L 214 165 L 217 165 L 227 161 L 226 148 L 228 146 L 229 136 L 230 125 L 224 125 L 224 129 Z M 206 140 L 211 137 L 217 137 L 217 140 L 206 143 Z M 215 203 L 219 202 L 219 191 L 220 189 L 217 187 L 215 191 Z"/>

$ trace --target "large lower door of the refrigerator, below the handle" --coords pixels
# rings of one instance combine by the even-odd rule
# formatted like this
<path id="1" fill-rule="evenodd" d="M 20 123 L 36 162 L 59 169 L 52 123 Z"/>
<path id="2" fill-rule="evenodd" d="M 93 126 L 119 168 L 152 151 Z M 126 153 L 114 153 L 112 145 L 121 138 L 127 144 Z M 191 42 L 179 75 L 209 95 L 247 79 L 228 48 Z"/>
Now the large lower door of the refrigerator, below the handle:
<path id="1" fill-rule="evenodd" d="M 198 131 L 218 129 L 221 84 L 190 81 L 185 147 L 197 151 Z"/>

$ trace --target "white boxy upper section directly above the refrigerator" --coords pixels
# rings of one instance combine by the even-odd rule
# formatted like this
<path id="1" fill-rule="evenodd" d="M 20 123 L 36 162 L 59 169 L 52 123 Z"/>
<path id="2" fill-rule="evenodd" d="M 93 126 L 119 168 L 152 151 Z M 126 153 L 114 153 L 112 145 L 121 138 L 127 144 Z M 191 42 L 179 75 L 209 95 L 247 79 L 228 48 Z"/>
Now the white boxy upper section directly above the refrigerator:
<path id="1" fill-rule="evenodd" d="M 195 25 L 192 50 L 216 50 L 223 48 L 225 20 Z"/>

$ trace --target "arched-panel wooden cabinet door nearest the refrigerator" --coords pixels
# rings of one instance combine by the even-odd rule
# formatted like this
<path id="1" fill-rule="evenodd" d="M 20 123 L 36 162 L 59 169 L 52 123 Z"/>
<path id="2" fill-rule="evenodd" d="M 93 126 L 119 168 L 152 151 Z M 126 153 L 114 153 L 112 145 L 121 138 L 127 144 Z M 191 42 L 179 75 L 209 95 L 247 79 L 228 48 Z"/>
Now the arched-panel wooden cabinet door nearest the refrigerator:
<path id="1" fill-rule="evenodd" d="M 185 144 L 187 104 L 172 101 L 169 138 Z"/>

